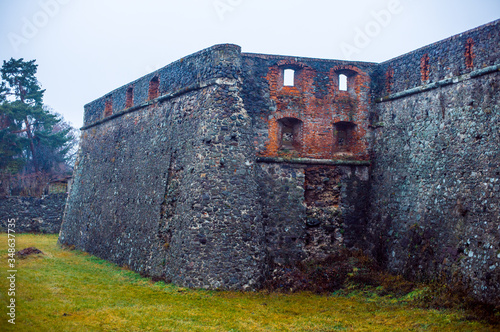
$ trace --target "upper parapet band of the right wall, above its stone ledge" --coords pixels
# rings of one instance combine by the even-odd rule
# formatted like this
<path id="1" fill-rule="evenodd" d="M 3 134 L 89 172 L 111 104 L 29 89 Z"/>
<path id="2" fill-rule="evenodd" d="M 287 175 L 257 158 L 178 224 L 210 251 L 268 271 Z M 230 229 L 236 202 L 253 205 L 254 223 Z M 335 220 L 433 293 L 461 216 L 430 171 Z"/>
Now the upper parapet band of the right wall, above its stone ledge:
<path id="1" fill-rule="evenodd" d="M 500 20 L 401 55 L 377 66 L 376 97 L 419 92 L 498 65 Z"/>

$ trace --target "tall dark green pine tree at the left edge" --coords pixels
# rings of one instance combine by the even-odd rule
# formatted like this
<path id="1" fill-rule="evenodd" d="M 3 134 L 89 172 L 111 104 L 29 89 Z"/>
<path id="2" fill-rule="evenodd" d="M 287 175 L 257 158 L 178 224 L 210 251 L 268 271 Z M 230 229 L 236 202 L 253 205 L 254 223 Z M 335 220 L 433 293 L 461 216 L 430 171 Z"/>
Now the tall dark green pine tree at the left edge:
<path id="1" fill-rule="evenodd" d="M 1 68 L 0 171 L 50 172 L 65 161 L 75 142 L 72 128 L 43 105 L 45 90 L 35 60 L 10 59 Z"/>

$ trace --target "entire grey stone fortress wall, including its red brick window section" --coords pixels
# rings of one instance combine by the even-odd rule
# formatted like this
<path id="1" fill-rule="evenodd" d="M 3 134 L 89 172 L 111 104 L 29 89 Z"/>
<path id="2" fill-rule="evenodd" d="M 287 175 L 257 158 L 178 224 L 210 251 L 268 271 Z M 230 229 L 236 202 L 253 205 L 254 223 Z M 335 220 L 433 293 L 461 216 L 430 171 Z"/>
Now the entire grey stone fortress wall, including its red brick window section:
<path id="1" fill-rule="evenodd" d="M 59 241 L 220 289 L 359 248 L 499 298 L 499 24 L 381 64 L 216 45 L 118 88 L 85 106 Z"/>

